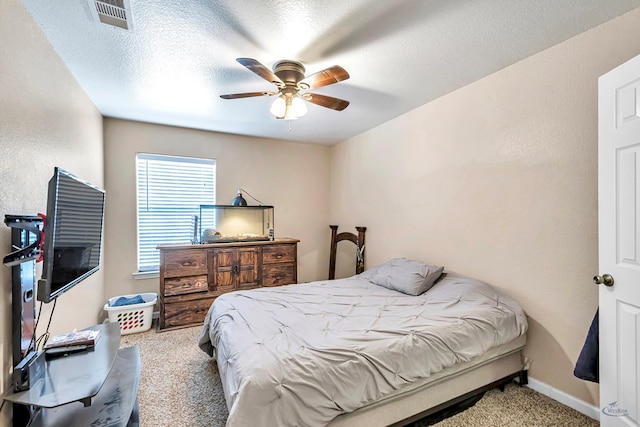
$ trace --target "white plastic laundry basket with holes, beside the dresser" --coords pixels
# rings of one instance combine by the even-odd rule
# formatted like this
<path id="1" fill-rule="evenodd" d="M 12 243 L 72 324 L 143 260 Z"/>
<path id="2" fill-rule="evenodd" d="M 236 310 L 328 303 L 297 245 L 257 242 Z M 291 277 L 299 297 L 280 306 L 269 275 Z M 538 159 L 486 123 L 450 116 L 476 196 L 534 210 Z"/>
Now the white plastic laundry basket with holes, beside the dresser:
<path id="1" fill-rule="evenodd" d="M 140 304 L 120 305 L 111 307 L 118 298 L 132 298 L 140 295 L 144 300 Z M 118 295 L 109 298 L 104 305 L 105 311 L 109 314 L 109 322 L 118 322 L 120 324 L 120 333 L 122 335 L 134 334 L 136 332 L 147 331 L 151 328 L 153 320 L 153 306 L 158 300 L 158 294 L 149 292 L 146 294 Z"/>

